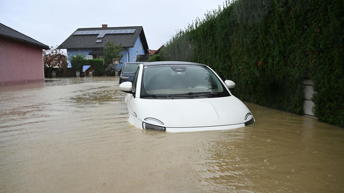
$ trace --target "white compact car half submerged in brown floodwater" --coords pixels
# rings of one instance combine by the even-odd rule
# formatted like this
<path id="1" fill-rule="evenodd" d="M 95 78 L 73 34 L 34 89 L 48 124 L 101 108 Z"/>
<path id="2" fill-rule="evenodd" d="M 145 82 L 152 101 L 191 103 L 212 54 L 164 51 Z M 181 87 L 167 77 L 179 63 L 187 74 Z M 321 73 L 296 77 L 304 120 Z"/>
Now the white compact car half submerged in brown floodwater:
<path id="1" fill-rule="evenodd" d="M 141 129 L 193 132 L 244 127 L 255 120 L 246 105 L 230 93 L 208 66 L 180 61 L 140 64 L 128 93 L 129 122 Z"/>

